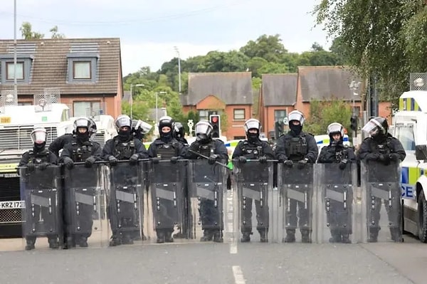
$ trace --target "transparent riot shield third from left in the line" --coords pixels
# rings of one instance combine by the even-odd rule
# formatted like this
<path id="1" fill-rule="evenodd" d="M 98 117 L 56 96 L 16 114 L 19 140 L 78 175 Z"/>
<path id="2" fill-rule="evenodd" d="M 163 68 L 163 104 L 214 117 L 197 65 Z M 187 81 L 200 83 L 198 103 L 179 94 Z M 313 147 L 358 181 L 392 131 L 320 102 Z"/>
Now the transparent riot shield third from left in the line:
<path id="1" fill-rule="evenodd" d="M 132 244 L 142 240 L 144 201 L 144 164 L 119 161 L 110 167 L 110 190 L 107 193 L 107 216 L 112 236 L 110 246 Z"/>

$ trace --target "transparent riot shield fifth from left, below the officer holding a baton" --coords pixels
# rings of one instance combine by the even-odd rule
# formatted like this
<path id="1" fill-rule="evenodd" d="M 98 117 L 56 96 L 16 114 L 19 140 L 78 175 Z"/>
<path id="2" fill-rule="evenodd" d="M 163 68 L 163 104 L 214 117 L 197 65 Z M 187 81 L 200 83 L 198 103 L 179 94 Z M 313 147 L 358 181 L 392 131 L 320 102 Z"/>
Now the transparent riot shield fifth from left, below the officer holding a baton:
<path id="1" fill-rule="evenodd" d="M 206 159 L 189 162 L 189 225 L 195 241 L 229 242 L 233 238 L 232 196 L 226 193 L 228 168 Z"/>

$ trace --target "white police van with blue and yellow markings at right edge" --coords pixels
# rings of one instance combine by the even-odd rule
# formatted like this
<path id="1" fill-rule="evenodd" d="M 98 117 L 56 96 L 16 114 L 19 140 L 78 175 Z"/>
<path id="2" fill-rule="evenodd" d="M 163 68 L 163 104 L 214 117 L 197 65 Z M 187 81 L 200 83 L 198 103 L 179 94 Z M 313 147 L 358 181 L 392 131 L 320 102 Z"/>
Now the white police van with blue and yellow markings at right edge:
<path id="1" fill-rule="evenodd" d="M 427 91 L 411 90 L 399 98 L 392 134 L 404 146 L 401 163 L 404 231 L 427 243 Z"/>

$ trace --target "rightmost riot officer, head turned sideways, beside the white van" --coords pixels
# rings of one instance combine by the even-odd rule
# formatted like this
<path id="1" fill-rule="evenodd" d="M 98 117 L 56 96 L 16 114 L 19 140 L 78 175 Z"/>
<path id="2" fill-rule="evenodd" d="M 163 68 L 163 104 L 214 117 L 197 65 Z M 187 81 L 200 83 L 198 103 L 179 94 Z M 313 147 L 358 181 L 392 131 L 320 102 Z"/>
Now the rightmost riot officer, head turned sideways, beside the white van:
<path id="1" fill-rule="evenodd" d="M 359 161 L 374 161 L 384 165 L 391 163 L 399 164 L 406 157 L 406 152 L 399 140 L 391 136 L 388 132 L 389 123 L 384 117 L 374 117 L 362 128 L 363 131 L 367 132 L 370 137 L 367 137 L 360 144 L 359 151 L 357 152 L 357 159 Z M 379 173 L 382 174 L 382 173 Z M 388 173 L 384 173 L 389 175 Z M 380 181 L 381 182 L 381 181 Z M 400 198 L 400 196 L 399 196 Z M 378 233 L 381 229 L 378 225 L 381 210 L 381 199 L 374 199 L 374 203 L 378 204 L 374 211 L 371 213 L 374 223 L 369 222 L 369 242 L 376 242 L 378 239 Z M 388 207 L 387 214 L 389 220 L 395 216 L 391 216 L 391 212 Z M 391 238 L 394 241 L 399 241 L 397 236 L 400 236 L 400 228 L 390 227 Z"/>

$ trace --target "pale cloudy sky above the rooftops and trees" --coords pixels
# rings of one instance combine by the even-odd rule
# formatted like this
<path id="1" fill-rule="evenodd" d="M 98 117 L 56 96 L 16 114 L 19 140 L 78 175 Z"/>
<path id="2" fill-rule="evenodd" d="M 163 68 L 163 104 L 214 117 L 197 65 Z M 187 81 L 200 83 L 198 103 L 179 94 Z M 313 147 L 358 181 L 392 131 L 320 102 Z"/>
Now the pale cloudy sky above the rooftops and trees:
<path id="1" fill-rule="evenodd" d="M 16 0 L 16 38 L 24 21 L 50 38 L 58 26 L 66 38 L 120 38 L 122 73 L 144 66 L 230 51 L 263 34 L 280 34 L 290 52 L 325 49 L 331 41 L 315 26 L 311 11 L 320 0 Z M 1 0 L 0 39 L 14 38 L 14 0 Z"/>

